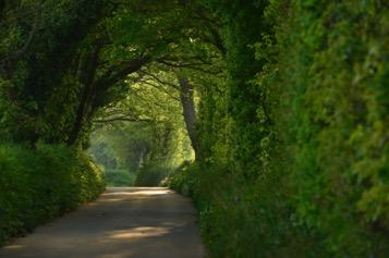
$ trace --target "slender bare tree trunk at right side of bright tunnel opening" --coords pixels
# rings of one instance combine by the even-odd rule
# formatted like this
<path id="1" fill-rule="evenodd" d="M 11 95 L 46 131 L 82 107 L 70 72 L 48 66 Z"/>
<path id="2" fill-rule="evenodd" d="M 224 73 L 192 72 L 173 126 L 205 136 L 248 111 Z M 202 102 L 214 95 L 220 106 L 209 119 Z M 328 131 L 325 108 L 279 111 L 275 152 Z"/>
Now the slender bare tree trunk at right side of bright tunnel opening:
<path id="1" fill-rule="evenodd" d="M 187 78 L 180 78 L 180 100 L 182 105 L 183 116 L 192 147 L 195 151 L 195 158 L 198 158 L 198 135 L 196 131 L 196 108 L 194 101 L 194 88 Z"/>

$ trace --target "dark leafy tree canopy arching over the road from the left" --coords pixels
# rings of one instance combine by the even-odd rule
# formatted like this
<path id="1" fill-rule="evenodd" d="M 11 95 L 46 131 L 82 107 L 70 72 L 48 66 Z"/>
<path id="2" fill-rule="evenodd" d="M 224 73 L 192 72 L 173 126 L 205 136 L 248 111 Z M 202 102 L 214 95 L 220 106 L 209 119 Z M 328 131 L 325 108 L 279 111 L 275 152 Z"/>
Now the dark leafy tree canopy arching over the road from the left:
<path id="1" fill-rule="evenodd" d="M 183 103 L 197 152 L 192 84 L 199 87 L 202 76 L 221 71 L 216 20 L 184 1 L 62 2 L 4 4 L 4 36 L 12 29 L 21 34 L 1 60 L 8 100 L 3 109 L 9 113 L 4 125 L 14 127 L 5 137 L 32 145 L 44 140 L 82 146 L 96 112 L 131 94 L 129 84 L 143 83 L 180 93 L 172 99 Z M 57 12 L 57 21 L 50 20 L 51 12 Z M 28 14 L 29 24 L 12 21 L 22 13 Z M 158 77 L 161 74 L 166 78 Z M 142 120 L 142 114 L 129 115 Z"/>

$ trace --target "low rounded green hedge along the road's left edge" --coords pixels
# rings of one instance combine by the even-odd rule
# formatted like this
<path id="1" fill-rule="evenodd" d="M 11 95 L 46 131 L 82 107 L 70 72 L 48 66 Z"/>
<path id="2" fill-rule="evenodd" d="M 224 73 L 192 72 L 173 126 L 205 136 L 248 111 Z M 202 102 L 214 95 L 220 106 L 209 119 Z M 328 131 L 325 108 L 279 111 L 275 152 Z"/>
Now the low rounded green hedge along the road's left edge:
<path id="1" fill-rule="evenodd" d="M 64 146 L 0 146 L 0 244 L 96 198 L 101 171 Z"/>

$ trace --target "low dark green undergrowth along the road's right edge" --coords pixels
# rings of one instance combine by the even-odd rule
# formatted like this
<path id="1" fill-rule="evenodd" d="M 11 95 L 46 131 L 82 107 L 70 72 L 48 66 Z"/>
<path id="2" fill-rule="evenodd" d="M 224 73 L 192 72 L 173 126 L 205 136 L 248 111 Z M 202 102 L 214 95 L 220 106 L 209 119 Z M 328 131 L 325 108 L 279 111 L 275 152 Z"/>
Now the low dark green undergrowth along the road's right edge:
<path id="1" fill-rule="evenodd" d="M 250 182 L 193 164 L 171 174 L 167 185 L 194 199 L 209 257 L 314 256 L 314 239 L 302 242 L 277 180 Z"/>

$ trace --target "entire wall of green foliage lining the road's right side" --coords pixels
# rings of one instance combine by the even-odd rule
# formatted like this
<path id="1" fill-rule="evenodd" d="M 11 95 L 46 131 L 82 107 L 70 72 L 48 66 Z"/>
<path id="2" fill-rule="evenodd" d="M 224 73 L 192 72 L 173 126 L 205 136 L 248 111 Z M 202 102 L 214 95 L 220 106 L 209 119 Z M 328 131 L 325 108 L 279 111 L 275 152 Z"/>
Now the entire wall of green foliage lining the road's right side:
<path id="1" fill-rule="evenodd" d="M 202 89 L 202 159 L 168 182 L 210 256 L 385 257 L 388 4 L 204 2 L 224 22 L 228 98 Z"/>

